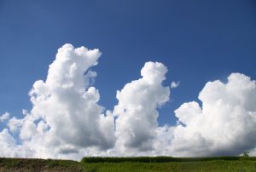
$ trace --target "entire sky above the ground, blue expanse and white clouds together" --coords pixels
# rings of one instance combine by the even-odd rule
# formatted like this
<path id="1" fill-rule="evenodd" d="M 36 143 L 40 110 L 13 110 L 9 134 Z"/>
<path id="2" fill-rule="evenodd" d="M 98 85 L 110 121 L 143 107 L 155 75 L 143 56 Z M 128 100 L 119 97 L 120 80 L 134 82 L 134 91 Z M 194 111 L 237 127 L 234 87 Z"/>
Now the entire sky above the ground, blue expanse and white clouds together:
<path id="1" fill-rule="evenodd" d="M 253 153 L 255 8 L 0 0 L 0 145 L 9 150 L 0 155 Z"/>

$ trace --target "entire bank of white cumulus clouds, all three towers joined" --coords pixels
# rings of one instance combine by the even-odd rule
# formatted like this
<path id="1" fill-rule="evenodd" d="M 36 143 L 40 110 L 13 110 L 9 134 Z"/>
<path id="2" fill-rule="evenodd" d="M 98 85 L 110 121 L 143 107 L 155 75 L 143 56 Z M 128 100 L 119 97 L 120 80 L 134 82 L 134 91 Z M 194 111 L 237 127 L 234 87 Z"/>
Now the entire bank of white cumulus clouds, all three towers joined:
<path id="1" fill-rule="evenodd" d="M 232 73 L 227 83 L 208 82 L 198 102 L 177 108 L 175 126 L 160 126 L 158 108 L 178 83 L 164 86 L 167 68 L 146 62 L 141 78 L 117 91 L 118 104 L 103 111 L 92 86 L 101 52 L 65 44 L 58 49 L 45 81 L 33 84 L 31 111 L 24 118 L 0 116 L 1 157 L 238 155 L 256 146 L 256 84 Z M 172 112 L 170 112 L 172 114 Z"/>

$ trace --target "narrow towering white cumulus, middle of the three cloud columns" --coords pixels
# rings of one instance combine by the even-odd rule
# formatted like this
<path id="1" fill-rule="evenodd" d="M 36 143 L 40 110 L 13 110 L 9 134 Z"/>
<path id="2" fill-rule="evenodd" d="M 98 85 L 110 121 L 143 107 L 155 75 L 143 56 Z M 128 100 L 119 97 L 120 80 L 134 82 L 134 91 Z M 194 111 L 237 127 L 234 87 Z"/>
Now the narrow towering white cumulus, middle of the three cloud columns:
<path id="1" fill-rule="evenodd" d="M 131 154 L 152 150 L 158 127 L 157 107 L 169 100 L 170 88 L 163 87 L 166 66 L 147 62 L 141 71 L 142 78 L 125 84 L 117 92 L 119 104 L 114 106 L 118 151 L 131 149 Z"/>

